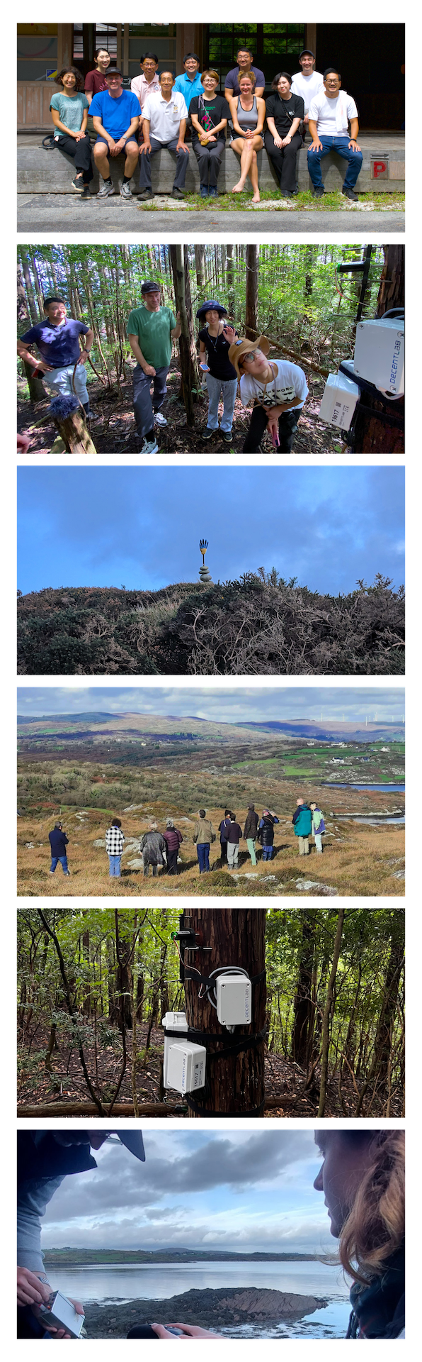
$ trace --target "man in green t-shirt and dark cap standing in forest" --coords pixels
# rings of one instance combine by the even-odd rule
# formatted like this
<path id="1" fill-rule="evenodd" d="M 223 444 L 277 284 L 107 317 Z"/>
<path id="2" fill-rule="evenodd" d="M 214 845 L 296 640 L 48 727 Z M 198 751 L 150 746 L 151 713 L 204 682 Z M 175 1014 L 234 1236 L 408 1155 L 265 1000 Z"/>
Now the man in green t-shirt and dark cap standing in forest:
<path id="1" fill-rule="evenodd" d="M 142 285 L 142 308 L 133 308 L 128 317 L 128 340 L 137 360 L 133 369 L 133 406 L 139 439 L 143 441 L 139 455 L 147 458 L 158 452 L 154 434 L 154 419 L 159 426 L 167 425 L 161 413 L 166 395 L 166 377 L 172 360 L 172 340 L 181 332 L 180 312 L 177 317 L 172 308 L 161 306 L 159 285 L 147 281 Z M 154 396 L 151 400 L 151 379 Z M 154 403 L 154 411 L 152 411 Z"/>

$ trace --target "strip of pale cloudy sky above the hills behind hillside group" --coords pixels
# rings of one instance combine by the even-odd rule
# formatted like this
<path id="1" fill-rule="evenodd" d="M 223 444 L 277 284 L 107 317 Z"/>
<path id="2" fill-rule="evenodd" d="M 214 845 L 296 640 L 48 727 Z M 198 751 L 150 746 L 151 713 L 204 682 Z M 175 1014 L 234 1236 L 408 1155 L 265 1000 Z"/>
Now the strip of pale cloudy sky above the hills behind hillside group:
<path id="1" fill-rule="evenodd" d="M 222 723 L 252 719 L 400 722 L 403 685 L 18 685 L 19 715 L 161 714 Z"/>

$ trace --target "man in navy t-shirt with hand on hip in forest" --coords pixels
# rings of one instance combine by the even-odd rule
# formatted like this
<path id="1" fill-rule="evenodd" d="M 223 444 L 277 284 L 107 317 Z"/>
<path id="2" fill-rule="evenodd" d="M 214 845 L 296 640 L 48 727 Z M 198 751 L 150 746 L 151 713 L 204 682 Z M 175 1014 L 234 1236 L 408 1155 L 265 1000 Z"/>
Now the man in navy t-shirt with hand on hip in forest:
<path id="1" fill-rule="evenodd" d="M 34 375 L 42 377 L 52 396 L 69 396 L 76 392 L 86 415 L 90 417 L 84 360 L 90 353 L 94 331 L 83 321 L 67 317 L 63 298 L 52 296 L 45 298 L 44 311 L 46 313 L 44 321 L 38 321 L 19 336 L 16 351 L 22 360 L 33 365 Z M 86 336 L 83 350 L 79 347 L 80 335 Z M 30 354 L 29 345 L 37 345 L 41 360 Z"/>

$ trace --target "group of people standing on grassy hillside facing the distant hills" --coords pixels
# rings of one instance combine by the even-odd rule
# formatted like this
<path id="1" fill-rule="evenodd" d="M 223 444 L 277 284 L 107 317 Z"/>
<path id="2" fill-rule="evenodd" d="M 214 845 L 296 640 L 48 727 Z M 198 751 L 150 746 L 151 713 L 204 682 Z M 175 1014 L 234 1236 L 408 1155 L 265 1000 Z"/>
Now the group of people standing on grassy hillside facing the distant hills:
<path id="1" fill-rule="evenodd" d="M 325 823 L 319 805 L 305 804 L 302 798 L 297 799 L 297 808 L 291 821 L 294 835 L 298 838 L 299 855 L 309 855 L 310 835 L 314 836 L 316 851 L 321 853 Z M 238 865 L 238 847 L 242 839 L 246 842 L 252 865 L 257 864 L 257 843 L 260 843 L 263 849 L 263 861 L 272 861 L 274 828 L 276 823 L 279 823 L 279 819 L 276 817 L 274 809 L 263 809 L 263 814 L 260 817 L 259 813 L 256 813 L 255 804 L 249 804 L 242 831 L 233 809 L 225 809 L 225 816 L 218 828 L 221 855 L 212 869 L 227 868 L 227 870 L 234 870 Z M 150 823 L 148 831 L 142 835 L 139 843 L 144 876 L 150 874 L 150 868 L 152 876 L 157 876 L 159 866 L 163 868 L 165 874 L 178 874 L 177 861 L 182 840 L 182 835 L 174 825 L 173 819 L 166 819 L 165 832 L 159 832 L 158 823 L 154 819 Z M 196 846 L 199 873 L 203 874 L 206 870 L 210 870 L 210 849 L 216 840 L 216 832 L 214 832 L 211 819 L 207 819 L 206 809 L 199 809 L 192 840 Z M 49 842 L 52 849 L 50 874 L 54 874 L 56 866 L 60 861 L 63 873 L 68 876 L 68 838 L 61 823 L 56 823 L 52 832 L 49 832 Z M 125 836 L 121 831 L 121 819 L 113 819 L 105 835 L 105 847 L 109 857 L 109 874 L 112 878 L 121 878 L 120 865 L 124 843 Z"/>

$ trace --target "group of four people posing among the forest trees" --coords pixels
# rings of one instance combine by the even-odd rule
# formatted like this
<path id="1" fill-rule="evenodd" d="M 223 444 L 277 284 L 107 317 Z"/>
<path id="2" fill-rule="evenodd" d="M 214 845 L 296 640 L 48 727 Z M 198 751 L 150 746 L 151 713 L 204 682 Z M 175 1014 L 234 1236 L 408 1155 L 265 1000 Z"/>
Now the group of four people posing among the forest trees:
<path id="1" fill-rule="evenodd" d="M 136 360 L 133 369 L 133 409 L 139 437 L 139 458 L 158 454 L 154 426 L 167 425 L 162 406 L 172 360 L 172 343 L 181 334 L 180 315 L 162 306 L 161 287 L 154 279 L 142 285 L 142 306 L 128 317 L 127 335 Z M 94 331 L 86 323 L 67 317 L 67 304 L 60 296 L 44 302 L 45 317 L 16 340 L 16 351 L 42 377 L 52 396 L 78 394 L 86 417 L 93 417 L 86 384 L 84 362 L 90 354 Z M 233 440 L 233 415 L 237 395 L 244 407 L 252 407 L 249 430 L 242 454 L 255 458 L 265 432 L 271 434 L 274 454 L 291 452 L 299 411 L 308 384 L 304 369 L 290 360 L 268 360 L 270 340 L 241 339 L 236 326 L 223 319 L 227 309 L 216 298 L 197 308 L 199 366 L 208 391 L 207 425 L 203 440 L 218 429 L 226 444 Z M 80 350 L 79 336 L 83 336 Z M 39 360 L 29 346 L 37 345 Z M 219 418 L 219 405 L 222 415 Z M 221 425 L 219 425 L 221 422 Z M 172 452 L 172 451 L 170 451 Z"/>

